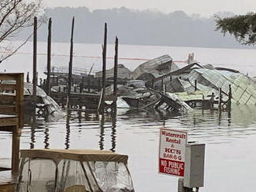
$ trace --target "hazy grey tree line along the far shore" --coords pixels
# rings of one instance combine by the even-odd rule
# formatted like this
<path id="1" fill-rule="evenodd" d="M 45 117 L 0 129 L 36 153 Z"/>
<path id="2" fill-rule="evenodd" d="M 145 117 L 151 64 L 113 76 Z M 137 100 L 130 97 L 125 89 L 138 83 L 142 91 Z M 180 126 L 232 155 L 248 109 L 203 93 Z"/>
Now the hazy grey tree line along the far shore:
<path id="1" fill-rule="evenodd" d="M 227 13 L 223 13 L 227 15 Z M 228 13 L 230 14 L 230 13 Z M 74 43 L 102 43 L 104 22 L 109 26 L 109 43 L 119 36 L 120 43 L 156 46 L 244 47 L 227 34 L 216 31 L 215 18 L 201 18 L 176 11 L 169 14 L 132 9 L 106 9 L 90 11 L 86 7 L 47 9 L 53 19 L 52 38 L 55 42 L 68 42 L 71 19 L 74 15 Z M 19 35 L 22 39 L 28 31 Z M 47 40 L 47 26 L 42 26 L 38 38 Z"/>

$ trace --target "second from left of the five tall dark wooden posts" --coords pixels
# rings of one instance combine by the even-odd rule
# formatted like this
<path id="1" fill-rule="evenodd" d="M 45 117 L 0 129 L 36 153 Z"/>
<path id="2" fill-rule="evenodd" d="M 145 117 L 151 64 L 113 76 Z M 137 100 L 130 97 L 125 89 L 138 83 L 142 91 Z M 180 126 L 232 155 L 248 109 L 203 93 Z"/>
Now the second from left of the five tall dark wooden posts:
<path id="1" fill-rule="evenodd" d="M 51 18 L 48 23 L 48 43 L 47 43 L 47 94 L 50 95 L 50 54 L 51 54 Z"/>

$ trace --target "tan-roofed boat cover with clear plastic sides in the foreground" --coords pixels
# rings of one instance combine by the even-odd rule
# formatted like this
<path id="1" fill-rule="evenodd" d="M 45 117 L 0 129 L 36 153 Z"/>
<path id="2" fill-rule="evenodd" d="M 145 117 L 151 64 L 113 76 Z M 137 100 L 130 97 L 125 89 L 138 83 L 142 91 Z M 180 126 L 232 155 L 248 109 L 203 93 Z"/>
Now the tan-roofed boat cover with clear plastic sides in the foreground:
<path id="1" fill-rule="evenodd" d="M 128 156 L 88 149 L 21 150 L 16 192 L 134 192 Z"/>

